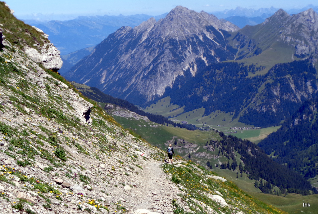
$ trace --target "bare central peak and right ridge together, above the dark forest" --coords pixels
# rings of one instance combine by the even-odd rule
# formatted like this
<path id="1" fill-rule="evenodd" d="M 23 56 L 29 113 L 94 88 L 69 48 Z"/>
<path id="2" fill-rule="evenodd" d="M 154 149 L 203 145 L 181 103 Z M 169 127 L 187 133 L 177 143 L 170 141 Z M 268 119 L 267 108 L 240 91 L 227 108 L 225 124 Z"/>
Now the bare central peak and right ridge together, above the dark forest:
<path id="1" fill-rule="evenodd" d="M 239 30 L 204 11 L 177 6 L 157 22 L 151 18 L 135 28 L 117 30 L 65 76 L 144 104 L 169 88 L 181 87 L 200 68 L 221 61 L 260 54 L 282 62 L 304 57 L 315 61 L 317 29 L 318 16 L 312 9 L 292 16 L 278 10 L 264 23 Z M 231 31 L 237 32 L 230 35 Z"/>

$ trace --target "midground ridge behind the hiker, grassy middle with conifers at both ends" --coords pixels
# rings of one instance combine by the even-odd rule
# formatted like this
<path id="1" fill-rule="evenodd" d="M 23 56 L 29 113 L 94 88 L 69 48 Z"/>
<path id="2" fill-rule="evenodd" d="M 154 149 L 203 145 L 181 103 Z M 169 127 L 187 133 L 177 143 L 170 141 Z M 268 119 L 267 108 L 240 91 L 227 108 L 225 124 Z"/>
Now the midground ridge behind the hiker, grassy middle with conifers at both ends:
<path id="1" fill-rule="evenodd" d="M 174 142 L 178 153 L 184 158 L 190 159 L 191 157 L 191 159 L 203 165 L 207 161 L 211 162 L 211 169 L 220 165 L 221 169 L 237 170 L 237 172 L 241 173 L 241 177 L 244 171 L 251 180 L 254 179 L 258 182 L 260 179 L 265 179 L 269 185 L 280 187 L 281 192 L 295 192 L 294 190 L 297 190 L 298 193 L 301 192 L 301 194 L 307 195 L 309 193 L 308 190 L 311 190 L 309 182 L 302 178 L 300 174 L 275 163 L 250 141 L 227 136 L 222 132 L 218 134 L 218 131 L 214 130 L 188 131 L 176 128 L 176 126 L 172 127 L 170 125 L 169 127 L 168 124 L 151 123 L 150 121 L 154 121 L 154 115 L 148 115 L 150 116 L 149 121 L 147 117 L 144 117 L 145 114 L 140 115 L 140 113 L 144 112 L 136 111 L 128 104 L 122 105 L 125 102 L 127 103 L 127 101 L 118 102 L 118 98 L 107 99 L 110 96 L 103 96 L 102 92 L 96 90 L 96 88 L 89 88 L 80 84 L 75 85 L 92 99 L 96 99 L 96 101 L 103 104 L 106 103 L 104 109 L 107 112 L 113 114 L 124 127 L 134 129 L 142 137 L 145 137 L 152 145 L 165 148 L 169 143 Z M 106 99 L 101 99 L 101 97 Z M 120 106 L 117 106 L 118 104 Z M 130 110 L 134 110 L 135 113 L 122 108 L 125 106 Z M 223 162 L 226 161 L 228 161 L 228 164 L 225 167 L 226 163 Z M 260 189 L 264 191 L 262 188 Z M 264 192 L 273 193 L 269 189 Z"/>

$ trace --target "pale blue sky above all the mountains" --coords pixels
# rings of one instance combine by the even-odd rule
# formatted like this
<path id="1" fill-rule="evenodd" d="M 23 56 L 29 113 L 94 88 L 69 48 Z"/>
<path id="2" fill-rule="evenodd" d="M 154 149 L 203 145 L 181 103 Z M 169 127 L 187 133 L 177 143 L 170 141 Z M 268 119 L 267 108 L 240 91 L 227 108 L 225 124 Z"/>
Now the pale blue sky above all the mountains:
<path id="1" fill-rule="evenodd" d="M 4 0 L 5 1 L 5 0 Z M 248 9 L 259 8 L 303 8 L 308 4 L 317 5 L 317 0 L 6 0 L 14 15 L 20 19 L 27 17 L 52 17 L 50 20 L 66 20 L 77 16 L 92 15 L 161 15 L 177 5 L 208 13 L 235 9 L 240 6 Z M 41 15 L 42 14 L 42 15 Z M 45 15 L 45 16 L 43 16 Z"/>

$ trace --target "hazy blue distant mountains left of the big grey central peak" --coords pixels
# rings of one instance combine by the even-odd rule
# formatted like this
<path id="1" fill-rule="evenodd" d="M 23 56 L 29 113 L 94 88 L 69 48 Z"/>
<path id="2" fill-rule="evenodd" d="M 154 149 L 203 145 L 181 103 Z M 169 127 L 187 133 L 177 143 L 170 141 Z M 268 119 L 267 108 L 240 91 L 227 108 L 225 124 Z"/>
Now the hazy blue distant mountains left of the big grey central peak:
<path id="1" fill-rule="evenodd" d="M 166 14 L 156 16 L 160 19 Z M 77 17 L 67 21 L 39 22 L 25 20 L 49 35 L 49 39 L 61 51 L 61 55 L 95 46 L 122 26 L 134 27 L 153 16 L 136 14 L 131 16 L 90 16 Z"/>

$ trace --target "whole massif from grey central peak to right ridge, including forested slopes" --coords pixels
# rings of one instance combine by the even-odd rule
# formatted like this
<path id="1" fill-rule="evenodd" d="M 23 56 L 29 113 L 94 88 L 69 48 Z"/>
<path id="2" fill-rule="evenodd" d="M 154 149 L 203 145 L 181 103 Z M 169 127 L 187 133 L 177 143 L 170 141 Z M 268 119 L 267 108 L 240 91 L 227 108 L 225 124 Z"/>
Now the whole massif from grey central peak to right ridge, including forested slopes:
<path id="1" fill-rule="evenodd" d="M 317 32 L 312 9 L 278 10 L 239 29 L 178 6 L 158 22 L 117 30 L 65 76 L 141 106 L 170 96 L 185 112 L 221 110 L 267 127 L 316 96 Z"/>

